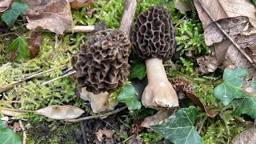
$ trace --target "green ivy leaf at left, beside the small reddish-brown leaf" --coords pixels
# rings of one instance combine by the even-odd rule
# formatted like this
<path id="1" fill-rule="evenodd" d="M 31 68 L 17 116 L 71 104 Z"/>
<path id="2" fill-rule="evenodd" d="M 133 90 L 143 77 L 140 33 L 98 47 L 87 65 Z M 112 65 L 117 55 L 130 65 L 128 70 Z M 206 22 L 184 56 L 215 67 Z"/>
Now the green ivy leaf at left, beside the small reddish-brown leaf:
<path id="1" fill-rule="evenodd" d="M 16 51 L 17 58 L 29 58 L 30 57 L 30 50 L 27 46 L 27 39 L 23 37 L 18 37 L 10 44 L 10 46 L 7 46 L 6 51 Z M 15 56 L 16 56 L 15 55 Z"/>

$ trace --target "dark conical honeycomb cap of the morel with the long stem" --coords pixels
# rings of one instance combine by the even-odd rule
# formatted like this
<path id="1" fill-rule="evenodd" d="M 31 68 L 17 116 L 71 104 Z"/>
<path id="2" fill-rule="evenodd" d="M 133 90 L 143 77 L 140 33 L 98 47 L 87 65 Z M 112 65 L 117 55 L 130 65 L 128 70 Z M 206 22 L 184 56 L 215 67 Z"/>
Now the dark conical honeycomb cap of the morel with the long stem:
<path id="1" fill-rule="evenodd" d="M 139 59 L 169 59 L 176 47 L 169 12 L 162 6 L 150 6 L 138 15 L 134 26 L 133 50 Z"/>

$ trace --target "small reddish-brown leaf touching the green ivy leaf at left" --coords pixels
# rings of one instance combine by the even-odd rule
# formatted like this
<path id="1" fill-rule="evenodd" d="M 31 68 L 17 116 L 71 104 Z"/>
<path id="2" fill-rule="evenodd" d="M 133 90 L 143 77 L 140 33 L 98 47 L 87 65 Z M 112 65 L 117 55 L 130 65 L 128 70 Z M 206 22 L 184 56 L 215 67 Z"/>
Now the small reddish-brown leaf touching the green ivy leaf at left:
<path id="1" fill-rule="evenodd" d="M 31 33 L 30 38 L 28 39 L 28 46 L 30 50 L 30 59 L 35 58 L 40 52 L 40 46 L 42 45 L 43 38 L 41 34 L 36 32 Z"/>

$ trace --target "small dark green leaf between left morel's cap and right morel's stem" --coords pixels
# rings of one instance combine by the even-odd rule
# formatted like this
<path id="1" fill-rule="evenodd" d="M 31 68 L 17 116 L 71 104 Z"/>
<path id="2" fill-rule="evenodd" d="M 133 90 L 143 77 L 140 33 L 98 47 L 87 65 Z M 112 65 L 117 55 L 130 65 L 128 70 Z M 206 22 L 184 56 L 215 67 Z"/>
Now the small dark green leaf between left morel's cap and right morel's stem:
<path id="1" fill-rule="evenodd" d="M 139 80 L 142 80 L 146 76 L 146 66 L 145 63 L 141 61 L 135 61 L 134 66 L 130 72 L 129 78 L 138 78 Z"/>

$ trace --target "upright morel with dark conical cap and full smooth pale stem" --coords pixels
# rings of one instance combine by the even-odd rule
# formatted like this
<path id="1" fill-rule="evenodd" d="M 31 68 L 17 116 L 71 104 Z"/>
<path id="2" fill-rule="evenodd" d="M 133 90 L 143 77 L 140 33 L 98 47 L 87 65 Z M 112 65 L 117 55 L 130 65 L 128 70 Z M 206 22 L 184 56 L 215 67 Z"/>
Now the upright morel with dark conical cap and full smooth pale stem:
<path id="1" fill-rule="evenodd" d="M 162 65 L 174 53 L 174 36 L 172 18 L 162 6 L 151 6 L 138 15 L 133 49 L 139 59 L 146 61 L 148 85 L 142 94 L 143 106 L 157 109 L 178 106 L 178 96 Z"/>

